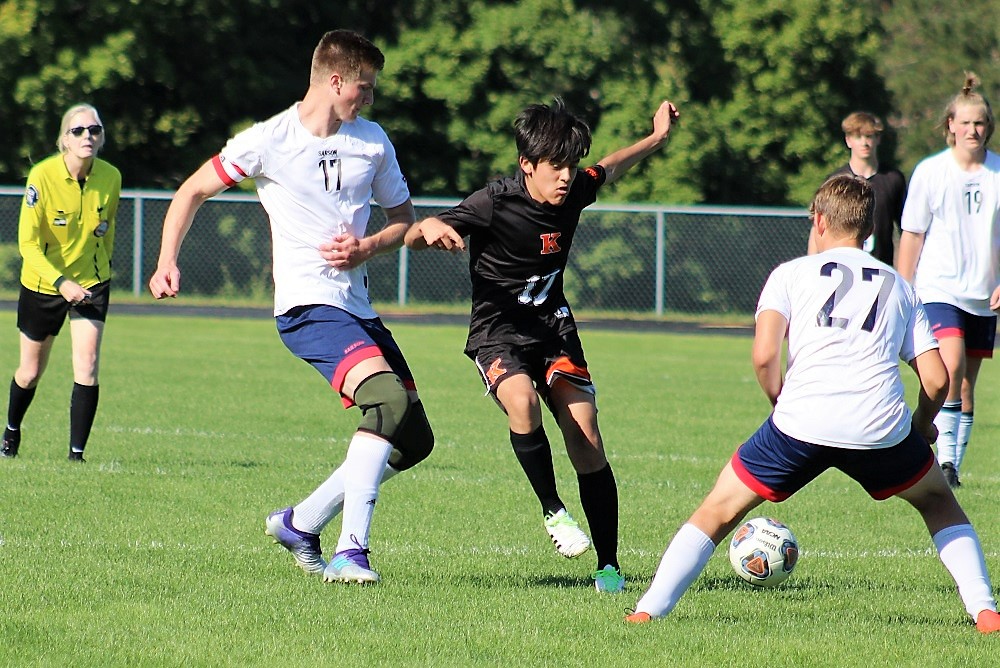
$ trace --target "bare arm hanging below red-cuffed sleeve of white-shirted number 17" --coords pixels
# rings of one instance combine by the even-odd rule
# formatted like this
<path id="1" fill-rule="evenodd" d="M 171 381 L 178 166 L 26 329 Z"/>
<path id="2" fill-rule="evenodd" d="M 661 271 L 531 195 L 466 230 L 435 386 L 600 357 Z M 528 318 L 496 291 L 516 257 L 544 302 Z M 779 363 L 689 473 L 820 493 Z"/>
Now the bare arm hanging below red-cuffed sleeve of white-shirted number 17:
<path id="1" fill-rule="evenodd" d="M 191 229 L 194 215 L 205 200 L 218 195 L 228 186 L 222 181 L 208 161 L 189 176 L 174 193 L 163 218 L 163 237 L 160 241 L 160 258 L 156 271 L 149 279 L 149 291 L 156 299 L 176 297 L 181 288 L 181 272 L 177 257 L 181 243 Z"/>

